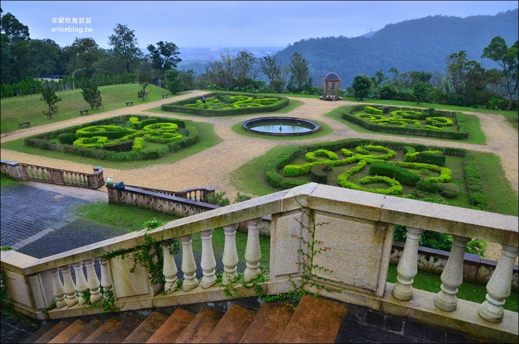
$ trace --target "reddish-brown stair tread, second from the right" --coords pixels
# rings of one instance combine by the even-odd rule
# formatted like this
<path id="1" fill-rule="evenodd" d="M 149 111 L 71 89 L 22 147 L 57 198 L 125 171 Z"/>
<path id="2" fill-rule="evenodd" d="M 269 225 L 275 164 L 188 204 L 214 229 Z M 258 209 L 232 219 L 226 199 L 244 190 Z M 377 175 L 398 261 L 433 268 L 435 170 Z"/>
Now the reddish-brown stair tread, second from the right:
<path id="1" fill-rule="evenodd" d="M 277 343 L 285 332 L 294 310 L 280 302 L 263 304 L 240 343 Z"/>

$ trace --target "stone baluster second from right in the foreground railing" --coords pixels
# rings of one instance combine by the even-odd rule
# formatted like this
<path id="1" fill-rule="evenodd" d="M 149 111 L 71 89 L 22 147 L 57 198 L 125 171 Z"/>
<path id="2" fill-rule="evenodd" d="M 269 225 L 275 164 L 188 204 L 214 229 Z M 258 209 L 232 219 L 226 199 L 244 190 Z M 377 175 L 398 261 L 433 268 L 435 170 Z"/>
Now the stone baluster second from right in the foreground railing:
<path id="1" fill-rule="evenodd" d="M 463 258 L 470 238 L 453 236 L 453 246 L 442 272 L 441 291 L 436 295 L 434 305 L 446 312 L 456 310 L 458 287 L 463 283 Z"/>

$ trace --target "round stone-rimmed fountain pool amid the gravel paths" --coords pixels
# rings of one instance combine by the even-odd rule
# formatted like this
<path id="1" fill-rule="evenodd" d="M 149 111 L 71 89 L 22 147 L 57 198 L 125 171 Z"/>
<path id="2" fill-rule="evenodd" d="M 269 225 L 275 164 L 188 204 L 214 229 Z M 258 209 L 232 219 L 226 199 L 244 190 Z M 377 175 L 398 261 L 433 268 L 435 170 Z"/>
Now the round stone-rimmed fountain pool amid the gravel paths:
<path id="1" fill-rule="evenodd" d="M 254 134 L 275 136 L 297 136 L 315 133 L 318 123 L 295 117 L 260 117 L 244 121 L 243 130 Z"/>

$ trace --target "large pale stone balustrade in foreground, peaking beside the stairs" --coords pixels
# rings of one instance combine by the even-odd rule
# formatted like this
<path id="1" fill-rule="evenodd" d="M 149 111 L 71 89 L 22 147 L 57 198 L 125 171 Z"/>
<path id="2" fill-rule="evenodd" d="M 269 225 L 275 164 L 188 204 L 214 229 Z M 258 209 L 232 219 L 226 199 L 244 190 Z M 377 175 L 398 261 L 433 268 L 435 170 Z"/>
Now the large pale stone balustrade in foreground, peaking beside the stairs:
<path id="1" fill-rule="evenodd" d="M 100 287 L 113 292 L 115 306 L 121 311 L 229 299 L 224 287 L 215 285 L 217 265 L 212 233 L 223 230 L 225 234 L 223 254 L 218 257 L 223 266 L 223 285 L 230 284 L 237 276 L 240 262 L 244 263 L 244 279 L 250 281 L 262 269 L 259 224 L 267 215 L 271 215 L 269 278 L 261 286 L 268 294 L 286 293 L 293 290 L 294 283 L 302 284 L 311 293 L 398 314 L 425 325 L 461 331 L 482 340 L 517 342 L 519 339 L 518 313 L 502 307 L 510 295 L 518 254 L 516 216 L 316 183 L 193 214 L 153 230 L 143 229 L 42 259 L 2 251 L 3 282 L 13 307 L 39 319 L 81 315 L 85 311 L 81 295 L 89 291 L 90 300 L 101 299 Z M 243 256 L 238 256 L 236 229 L 244 221 L 249 229 L 247 248 Z M 398 263 L 398 282 L 392 284 L 386 279 L 394 224 L 406 226 L 407 239 Z M 418 278 L 418 241 L 424 230 L 448 233 L 454 238 L 438 293 L 413 288 L 413 281 Z M 194 254 L 193 236 L 198 233 L 201 252 Z M 173 238 L 181 243 L 181 253 L 177 255 L 170 253 L 167 244 Z M 482 304 L 456 297 L 463 283 L 463 254 L 470 238 L 502 246 Z M 114 255 L 131 251 L 151 239 L 164 243 L 165 283 L 151 284 L 147 270 L 140 265 L 130 273 L 132 259 Z M 199 276 L 198 266 L 202 271 Z M 304 283 L 305 267 L 312 269 L 309 283 Z M 179 278 L 183 279 L 182 283 Z M 324 288 L 314 286 L 313 282 Z M 254 295 L 253 289 L 238 286 L 237 290 L 241 296 Z M 57 308 L 42 314 L 52 299 L 56 299 Z"/>

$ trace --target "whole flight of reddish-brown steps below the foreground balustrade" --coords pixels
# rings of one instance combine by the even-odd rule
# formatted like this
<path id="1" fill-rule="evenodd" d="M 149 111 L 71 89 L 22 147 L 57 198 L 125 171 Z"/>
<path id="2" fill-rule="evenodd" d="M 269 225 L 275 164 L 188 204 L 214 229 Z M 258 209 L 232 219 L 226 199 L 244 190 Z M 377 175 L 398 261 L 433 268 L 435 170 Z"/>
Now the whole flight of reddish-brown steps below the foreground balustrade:
<path id="1" fill-rule="evenodd" d="M 304 295 L 295 311 L 279 302 L 259 310 L 232 304 L 222 313 L 203 306 L 194 314 L 177 308 L 169 317 L 153 311 L 103 322 L 48 323 L 23 343 L 333 343 L 346 306 Z"/>

